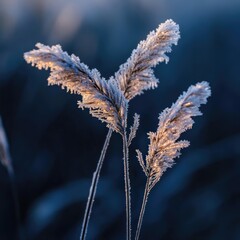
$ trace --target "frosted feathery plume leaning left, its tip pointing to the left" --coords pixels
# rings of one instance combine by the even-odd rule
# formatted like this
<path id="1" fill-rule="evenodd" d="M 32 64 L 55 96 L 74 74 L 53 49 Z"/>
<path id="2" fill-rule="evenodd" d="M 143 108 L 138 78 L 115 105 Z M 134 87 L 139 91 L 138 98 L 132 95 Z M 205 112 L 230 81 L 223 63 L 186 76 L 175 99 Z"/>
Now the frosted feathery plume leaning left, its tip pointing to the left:
<path id="1" fill-rule="evenodd" d="M 118 83 L 106 81 L 96 70 L 90 70 L 75 55 L 69 56 L 60 45 L 36 44 L 38 49 L 24 54 L 27 63 L 38 69 L 50 69 L 49 85 L 60 85 L 82 96 L 79 107 L 89 108 L 90 114 L 116 132 L 123 133 L 126 124 L 127 101 Z"/>

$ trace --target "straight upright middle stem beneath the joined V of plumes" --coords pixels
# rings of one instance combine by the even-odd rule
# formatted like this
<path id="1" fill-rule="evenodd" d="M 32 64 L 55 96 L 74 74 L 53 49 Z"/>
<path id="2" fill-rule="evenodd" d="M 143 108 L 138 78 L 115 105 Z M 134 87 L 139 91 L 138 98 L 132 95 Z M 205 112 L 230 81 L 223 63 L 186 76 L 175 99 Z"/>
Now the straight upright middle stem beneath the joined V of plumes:
<path id="1" fill-rule="evenodd" d="M 130 178 L 128 167 L 128 141 L 126 131 L 123 134 L 123 163 L 124 163 L 124 182 L 126 194 L 126 227 L 127 240 L 131 239 L 131 197 L 130 197 Z"/>

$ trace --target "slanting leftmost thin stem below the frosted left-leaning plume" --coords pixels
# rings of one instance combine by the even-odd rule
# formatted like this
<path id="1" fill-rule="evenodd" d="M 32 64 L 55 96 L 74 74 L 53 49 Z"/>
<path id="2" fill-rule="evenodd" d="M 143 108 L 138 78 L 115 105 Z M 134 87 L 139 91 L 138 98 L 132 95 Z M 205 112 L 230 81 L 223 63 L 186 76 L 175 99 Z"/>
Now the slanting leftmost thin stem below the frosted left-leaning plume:
<path id="1" fill-rule="evenodd" d="M 86 208 L 85 208 L 85 214 L 84 214 L 84 219 L 83 219 L 83 224 L 82 224 L 82 231 L 81 231 L 81 235 L 80 235 L 80 240 L 86 239 L 88 223 L 89 223 L 89 220 L 90 220 L 90 215 L 91 215 L 91 211 L 92 211 L 92 207 L 93 207 L 93 202 L 94 202 L 95 195 L 96 195 L 98 180 L 99 180 L 99 177 L 100 177 L 101 168 L 102 168 L 102 165 L 103 165 L 103 161 L 104 161 L 107 149 L 108 149 L 108 145 L 109 145 L 111 136 L 112 136 L 112 130 L 109 129 L 108 134 L 107 134 L 106 139 L 105 139 L 105 142 L 104 142 L 104 145 L 103 145 L 103 149 L 102 149 L 100 158 L 98 160 L 97 168 L 96 168 L 95 172 L 93 173 L 92 184 L 91 184 L 91 187 L 90 187 L 90 190 L 89 190 L 88 201 L 87 201 L 87 205 L 86 205 Z"/>

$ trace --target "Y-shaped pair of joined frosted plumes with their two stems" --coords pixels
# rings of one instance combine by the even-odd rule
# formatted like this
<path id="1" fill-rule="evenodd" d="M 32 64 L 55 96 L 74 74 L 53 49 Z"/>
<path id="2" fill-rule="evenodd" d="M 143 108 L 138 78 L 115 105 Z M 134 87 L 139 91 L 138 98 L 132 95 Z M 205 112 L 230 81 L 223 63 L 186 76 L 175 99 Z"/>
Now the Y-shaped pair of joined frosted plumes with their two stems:
<path id="1" fill-rule="evenodd" d="M 144 90 L 157 87 L 158 80 L 155 78 L 152 68 L 159 62 L 168 62 L 166 53 L 171 52 L 171 46 L 177 45 L 179 38 L 179 27 L 172 20 L 160 24 L 156 31 L 151 32 L 146 40 L 139 43 L 137 49 L 120 67 L 115 77 L 111 77 L 108 81 L 101 78 L 96 69 L 89 70 L 75 55 L 69 56 L 63 52 L 59 45 L 49 47 L 38 43 L 37 50 L 24 54 L 26 61 L 32 63 L 33 66 L 39 69 L 50 68 L 49 85 L 60 85 L 71 93 L 80 94 L 82 102 L 78 102 L 79 107 L 89 108 L 94 117 L 106 122 L 109 127 L 97 169 L 93 175 L 80 239 L 86 238 L 98 179 L 112 130 L 120 133 L 123 138 L 127 239 L 131 238 L 128 147 L 136 135 L 139 116 L 135 115 L 134 124 L 127 138 L 127 100 L 142 94 Z"/>

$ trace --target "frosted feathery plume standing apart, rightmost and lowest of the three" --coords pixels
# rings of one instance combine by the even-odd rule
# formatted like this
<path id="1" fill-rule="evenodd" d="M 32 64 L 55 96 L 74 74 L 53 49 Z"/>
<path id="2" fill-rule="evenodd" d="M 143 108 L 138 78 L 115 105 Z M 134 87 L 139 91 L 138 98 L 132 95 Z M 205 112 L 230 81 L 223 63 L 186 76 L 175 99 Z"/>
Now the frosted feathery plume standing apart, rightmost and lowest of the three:
<path id="1" fill-rule="evenodd" d="M 180 150 L 189 146 L 188 141 L 177 140 L 181 133 L 192 128 L 192 117 L 202 115 L 199 107 L 207 103 L 210 95 L 207 82 L 190 86 L 171 108 L 166 108 L 160 114 L 157 131 L 148 133 L 150 144 L 146 164 L 142 164 L 142 154 L 137 150 L 139 162 L 150 180 L 149 191 L 163 172 L 174 164 L 173 159 L 180 156 Z"/>

